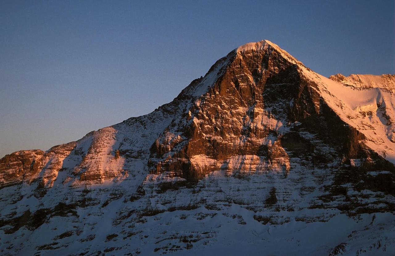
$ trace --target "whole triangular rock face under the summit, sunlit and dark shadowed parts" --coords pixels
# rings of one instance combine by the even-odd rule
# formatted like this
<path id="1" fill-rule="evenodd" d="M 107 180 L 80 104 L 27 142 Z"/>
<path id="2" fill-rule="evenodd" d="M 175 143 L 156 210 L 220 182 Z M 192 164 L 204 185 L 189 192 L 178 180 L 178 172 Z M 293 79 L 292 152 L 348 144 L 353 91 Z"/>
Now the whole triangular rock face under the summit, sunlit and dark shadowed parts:
<path id="1" fill-rule="evenodd" d="M 364 134 L 337 117 L 320 95 L 320 84 L 309 77 L 313 72 L 273 43 L 235 49 L 211 70 L 218 78 L 207 78 L 209 72 L 199 81 L 207 91 L 151 148 L 154 172 L 199 179 L 215 169 L 288 171 L 283 140 L 300 137 L 299 130 L 319 134 L 340 157 L 371 155 L 360 143 Z M 298 144 L 288 144 L 288 150 L 303 142 Z M 252 162 L 244 164 L 243 156 Z"/>

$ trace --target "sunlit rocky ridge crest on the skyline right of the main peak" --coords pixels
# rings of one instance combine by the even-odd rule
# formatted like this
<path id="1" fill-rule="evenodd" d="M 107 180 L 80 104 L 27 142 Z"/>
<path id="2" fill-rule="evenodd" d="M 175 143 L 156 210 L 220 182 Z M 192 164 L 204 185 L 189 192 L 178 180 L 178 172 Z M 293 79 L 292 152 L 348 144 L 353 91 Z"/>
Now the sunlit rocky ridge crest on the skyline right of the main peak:
<path id="1" fill-rule="evenodd" d="M 351 74 L 348 77 L 342 74 L 331 75 L 329 79 L 337 81 L 346 86 L 352 86 L 361 89 L 382 88 L 389 92 L 395 93 L 395 75 L 361 75 Z"/>

